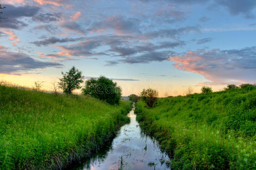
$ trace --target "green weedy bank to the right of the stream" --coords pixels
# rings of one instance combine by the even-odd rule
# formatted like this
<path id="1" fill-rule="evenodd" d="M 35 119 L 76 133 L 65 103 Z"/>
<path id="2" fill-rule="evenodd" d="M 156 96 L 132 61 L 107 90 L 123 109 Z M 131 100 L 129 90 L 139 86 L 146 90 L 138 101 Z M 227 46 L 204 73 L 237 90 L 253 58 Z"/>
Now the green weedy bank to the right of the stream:
<path id="1" fill-rule="evenodd" d="M 167 97 L 137 119 L 174 169 L 255 169 L 256 90 Z"/>

